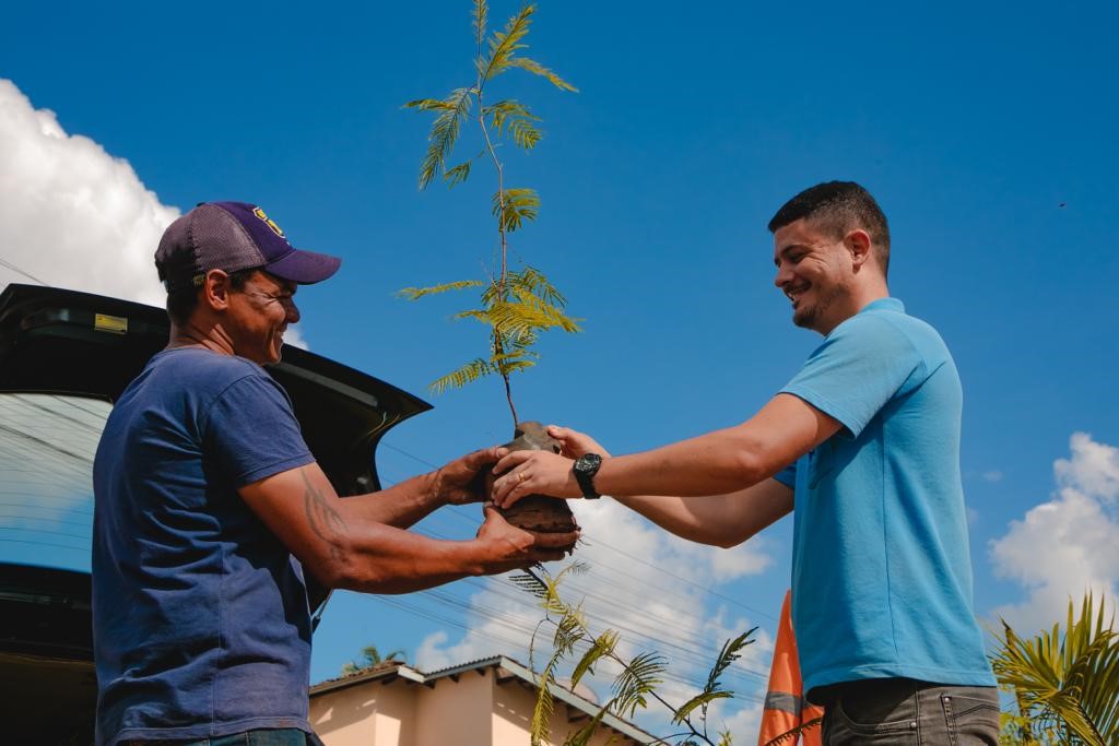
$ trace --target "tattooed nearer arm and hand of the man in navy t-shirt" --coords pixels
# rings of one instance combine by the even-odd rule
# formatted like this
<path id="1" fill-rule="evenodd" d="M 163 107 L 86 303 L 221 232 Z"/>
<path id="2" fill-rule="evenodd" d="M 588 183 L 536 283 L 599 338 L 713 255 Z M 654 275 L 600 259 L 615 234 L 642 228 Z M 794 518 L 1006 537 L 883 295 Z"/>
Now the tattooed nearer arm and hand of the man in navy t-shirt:
<path id="1" fill-rule="evenodd" d="M 577 538 L 530 533 L 490 509 L 477 538 L 430 539 L 370 520 L 363 506 L 338 498 L 316 463 L 253 482 L 239 493 L 303 567 L 331 588 L 408 593 L 561 559 L 560 547 Z"/>

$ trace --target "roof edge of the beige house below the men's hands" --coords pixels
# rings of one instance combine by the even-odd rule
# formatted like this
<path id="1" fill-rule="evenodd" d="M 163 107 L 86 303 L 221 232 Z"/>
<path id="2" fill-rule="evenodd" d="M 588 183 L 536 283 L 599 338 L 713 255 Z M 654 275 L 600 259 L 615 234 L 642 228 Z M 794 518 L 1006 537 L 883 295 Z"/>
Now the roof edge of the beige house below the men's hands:
<path id="1" fill-rule="evenodd" d="M 459 665 L 452 665 L 445 669 L 439 669 L 438 671 L 427 672 L 420 671 L 399 661 L 385 661 L 372 668 L 364 669 L 357 673 L 339 677 L 337 679 L 328 679 L 327 681 L 317 683 L 311 687 L 310 695 L 311 697 L 317 697 L 338 689 L 345 689 L 359 683 L 376 680 L 383 680 L 384 683 L 388 683 L 388 681 L 394 679 L 405 679 L 413 683 L 422 683 L 427 687 L 434 687 L 435 682 L 440 679 L 450 679 L 458 682 L 459 677 L 463 673 L 468 673 L 470 671 L 483 673 L 488 669 L 495 669 L 498 683 L 516 680 L 523 684 L 533 687 L 534 689 L 539 689 L 540 687 L 539 674 L 530 668 L 506 655 L 493 655 L 467 663 L 460 663 Z M 602 709 L 602 707 L 596 702 L 576 695 L 574 691 L 561 687 L 560 684 L 549 683 L 548 691 L 552 692 L 552 696 L 555 699 L 562 701 L 567 707 L 582 711 L 587 717 L 598 717 L 599 710 Z M 639 744 L 649 744 L 657 740 L 656 736 L 648 734 L 632 723 L 628 723 L 627 720 L 609 712 L 602 716 L 601 723 L 611 730 L 636 740 Z"/>

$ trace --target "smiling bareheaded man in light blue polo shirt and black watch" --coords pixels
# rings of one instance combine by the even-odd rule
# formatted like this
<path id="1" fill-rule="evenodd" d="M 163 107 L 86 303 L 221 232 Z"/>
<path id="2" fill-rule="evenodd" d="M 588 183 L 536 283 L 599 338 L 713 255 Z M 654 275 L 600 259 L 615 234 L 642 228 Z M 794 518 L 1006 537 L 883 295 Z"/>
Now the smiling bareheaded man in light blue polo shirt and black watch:
<path id="1" fill-rule="evenodd" d="M 811 187 L 769 228 L 793 323 L 825 338 L 773 399 L 735 427 L 618 457 L 554 427 L 574 464 L 509 454 L 495 501 L 605 493 L 723 547 L 792 511 L 792 621 L 825 743 L 995 744 L 951 355 L 890 298 L 890 232 L 865 189 Z"/>

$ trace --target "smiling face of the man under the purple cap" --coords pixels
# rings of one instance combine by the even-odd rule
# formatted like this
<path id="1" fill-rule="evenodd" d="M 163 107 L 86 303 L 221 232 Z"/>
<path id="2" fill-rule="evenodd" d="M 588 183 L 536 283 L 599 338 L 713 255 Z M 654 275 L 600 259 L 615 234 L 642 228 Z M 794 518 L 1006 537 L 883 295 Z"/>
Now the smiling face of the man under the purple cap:
<path id="1" fill-rule="evenodd" d="M 258 365 L 280 361 L 283 333 L 299 321 L 293 295 L 298 285 L 267 272 L 254 272 L 245 285 L 229 292 L 225 332 L 233 351 Z"/>

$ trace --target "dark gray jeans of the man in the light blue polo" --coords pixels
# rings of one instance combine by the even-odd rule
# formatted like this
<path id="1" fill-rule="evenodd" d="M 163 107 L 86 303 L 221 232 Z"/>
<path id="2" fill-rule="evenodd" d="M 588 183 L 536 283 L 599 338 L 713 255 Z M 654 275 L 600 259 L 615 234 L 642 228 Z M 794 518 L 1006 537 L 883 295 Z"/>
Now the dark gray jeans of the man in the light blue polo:
<path id="1" fill-rule="evenodd" d="M 913 679 L 871 679 L 828 687 L 824 745 L 971 746 L 998 744 L 998 691 Z"/>

